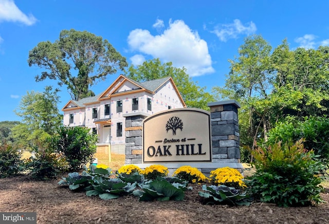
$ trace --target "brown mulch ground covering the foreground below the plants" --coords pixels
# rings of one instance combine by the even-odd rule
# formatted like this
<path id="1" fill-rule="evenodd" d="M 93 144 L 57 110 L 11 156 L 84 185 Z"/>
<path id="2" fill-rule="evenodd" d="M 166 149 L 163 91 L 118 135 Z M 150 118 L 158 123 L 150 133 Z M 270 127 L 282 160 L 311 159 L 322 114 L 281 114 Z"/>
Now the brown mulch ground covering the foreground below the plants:
<path id="1" fill-rule="evenodd" d="M 329 223 L 328 203 L 302 208 L 261 202 L 249 207 L 207 206 L 197 194 L 197 184 L 184 201 L 140 202 L 134 196 L 102 200 L 71 192 L 58 181 L 0 179 L 0 212 L 36 212 L 38 223 Z M 321 197 L 329 202 L 329 189 Z"/>

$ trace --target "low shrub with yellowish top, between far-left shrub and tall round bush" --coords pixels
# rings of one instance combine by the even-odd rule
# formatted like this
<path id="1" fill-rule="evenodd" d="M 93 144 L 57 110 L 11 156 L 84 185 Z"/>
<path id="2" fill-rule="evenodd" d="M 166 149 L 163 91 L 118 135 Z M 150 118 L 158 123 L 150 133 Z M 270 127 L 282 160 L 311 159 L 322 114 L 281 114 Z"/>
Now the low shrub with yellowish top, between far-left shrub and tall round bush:
<path id="1" fill-rule="evenodd" d="M 31 157 L 26 168 L 36 180 L 54 179 L 59 173 L 67 170 L 67 162 L 63 155 L 52 150 L 34 148 L 35 157 Z"/>

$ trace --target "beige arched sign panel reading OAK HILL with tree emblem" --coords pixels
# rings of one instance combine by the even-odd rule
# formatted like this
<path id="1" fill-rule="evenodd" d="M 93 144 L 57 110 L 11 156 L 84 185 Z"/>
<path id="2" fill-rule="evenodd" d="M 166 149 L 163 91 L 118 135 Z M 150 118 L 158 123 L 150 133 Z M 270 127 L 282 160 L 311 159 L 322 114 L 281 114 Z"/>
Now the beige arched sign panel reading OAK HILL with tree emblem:
<path id="1" fill-rule="evenodd" d="M 210 162 L 210 113 L 171 109 L 143 121 L 143 162 Z"/>

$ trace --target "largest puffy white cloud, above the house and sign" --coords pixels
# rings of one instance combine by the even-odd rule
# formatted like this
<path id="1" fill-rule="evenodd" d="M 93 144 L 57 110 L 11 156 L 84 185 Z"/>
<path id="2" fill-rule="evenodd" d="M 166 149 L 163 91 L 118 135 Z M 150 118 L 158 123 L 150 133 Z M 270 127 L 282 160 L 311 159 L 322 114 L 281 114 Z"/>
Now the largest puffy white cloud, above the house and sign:
<path id="1" fill-rule="evenodd" d="M 184 21 L 170 21 L 169 27 L 159 35 L 135 29 L 130 32 L 127 42 L 132 50 L 159 58 L 162 63 L 172 62 L 174 67 L 185 67 L 190 76 L 214 72 L 207 42 Z"/>

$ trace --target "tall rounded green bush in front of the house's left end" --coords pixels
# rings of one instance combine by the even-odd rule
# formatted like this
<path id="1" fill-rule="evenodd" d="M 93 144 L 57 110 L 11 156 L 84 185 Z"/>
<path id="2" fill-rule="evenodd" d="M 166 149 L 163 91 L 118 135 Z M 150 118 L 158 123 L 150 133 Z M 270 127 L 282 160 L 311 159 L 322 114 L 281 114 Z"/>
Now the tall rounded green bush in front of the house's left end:
<path id="1" fill-rule="evenodd" d="M 52 139 L 52 147 L 64 154 L 69 171 L 79 171 L 93 161 L 96 142 L 97 135 L 90 133 L 87 127 L 61 127 Z"/>

